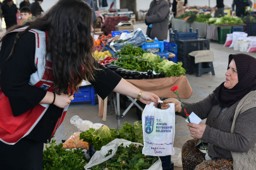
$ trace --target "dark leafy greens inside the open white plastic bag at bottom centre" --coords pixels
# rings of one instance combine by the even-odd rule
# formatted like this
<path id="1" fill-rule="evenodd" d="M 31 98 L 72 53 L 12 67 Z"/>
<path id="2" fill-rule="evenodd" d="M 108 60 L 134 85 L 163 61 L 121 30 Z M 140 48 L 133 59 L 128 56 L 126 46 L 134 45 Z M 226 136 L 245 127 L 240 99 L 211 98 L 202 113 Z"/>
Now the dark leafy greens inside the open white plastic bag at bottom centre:
<path id="1" fill-rule="evenodd" d="M 123 144 L 119 145 L 118 150 L 114 157 L 98 164 L 97 166 L 90 167 L 92 170 L 140 170 L 149 169 L 159 158 L 154 156 L 145 156 L 142 154 L 142 146 L 130 144 L 129 147 L 124 147 Z M 105 157 L 112 154 L 112 149 L 106 154 Z"/>

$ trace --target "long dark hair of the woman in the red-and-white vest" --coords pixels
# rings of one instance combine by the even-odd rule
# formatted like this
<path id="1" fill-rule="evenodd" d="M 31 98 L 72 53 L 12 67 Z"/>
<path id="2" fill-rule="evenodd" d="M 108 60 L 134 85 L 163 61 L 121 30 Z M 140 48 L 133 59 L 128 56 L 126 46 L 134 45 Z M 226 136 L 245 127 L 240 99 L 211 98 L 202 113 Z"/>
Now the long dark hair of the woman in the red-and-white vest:
<path id="1" fill-rule="evenodd" d="M 9 57 L 13 54 L 16 42 L 28 30 L 47 31 L 49 38 L 46 55 L 50 54 L 52 60 L 53 89 L 57 94 L 73 94 L 83 79 L 94 79 L 94 71 L 97 69 L 92 56 L 92 18 L 92 8 L 83 0 L 59 0 L 46 14 L 24 25 L 9 28 L 6 33 L 28 26 L 26 30 L 17 33 Z"/>

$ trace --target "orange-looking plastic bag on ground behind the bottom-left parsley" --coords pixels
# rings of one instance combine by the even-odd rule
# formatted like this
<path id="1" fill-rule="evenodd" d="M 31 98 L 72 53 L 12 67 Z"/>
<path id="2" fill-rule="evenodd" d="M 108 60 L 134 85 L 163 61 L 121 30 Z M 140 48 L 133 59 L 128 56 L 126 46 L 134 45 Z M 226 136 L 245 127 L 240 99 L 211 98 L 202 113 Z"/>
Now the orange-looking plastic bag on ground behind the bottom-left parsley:
<path id="1" fill-rule="evenodd" d="M 88 150 L 88 143 L 83 142 L 83 139 L 80 140 L 80 132 L 75 132 L 68 140 L 64 142 L 63 147 L 66 149 L 80 147 Z"/>

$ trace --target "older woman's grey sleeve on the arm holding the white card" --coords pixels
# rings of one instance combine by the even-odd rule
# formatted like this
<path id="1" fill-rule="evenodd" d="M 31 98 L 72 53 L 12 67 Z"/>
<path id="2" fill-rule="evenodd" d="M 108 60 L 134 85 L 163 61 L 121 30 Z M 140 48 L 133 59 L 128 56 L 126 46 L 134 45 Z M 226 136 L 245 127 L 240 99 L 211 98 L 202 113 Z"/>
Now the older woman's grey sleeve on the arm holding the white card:
<path id="1" fill-rule="evenodd" d="M 247 152 L 256 142 L 256 108 L 241 113 L 236 119 L 234 133 L 221 132 L 206 125 L 202 140 L 233 152 Z"/>

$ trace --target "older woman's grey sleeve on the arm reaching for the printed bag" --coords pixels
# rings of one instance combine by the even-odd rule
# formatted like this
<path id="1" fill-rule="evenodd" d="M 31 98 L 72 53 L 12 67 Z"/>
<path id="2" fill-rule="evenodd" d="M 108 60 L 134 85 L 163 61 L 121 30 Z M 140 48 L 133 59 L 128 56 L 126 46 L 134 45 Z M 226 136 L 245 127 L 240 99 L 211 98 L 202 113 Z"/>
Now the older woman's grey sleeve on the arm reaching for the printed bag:
<path id="1" fill-rule="evenodd" d="M 212 110 L 212 98 L 214 98 L 214 94 L 209 94 L 206 98 L 198 101 L 197 103 L 185 103 L 186 112 L 188 115 L 192 113 L 192 111 L 202 120 L 208 117 L 210 110 Z M 186 118 L 186 113 L 184 110 L 181 113 L 176 113 L 176 115 L 183 116 Z"/>

